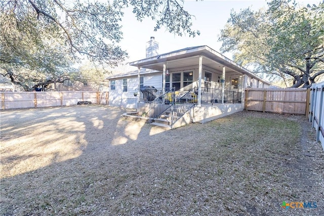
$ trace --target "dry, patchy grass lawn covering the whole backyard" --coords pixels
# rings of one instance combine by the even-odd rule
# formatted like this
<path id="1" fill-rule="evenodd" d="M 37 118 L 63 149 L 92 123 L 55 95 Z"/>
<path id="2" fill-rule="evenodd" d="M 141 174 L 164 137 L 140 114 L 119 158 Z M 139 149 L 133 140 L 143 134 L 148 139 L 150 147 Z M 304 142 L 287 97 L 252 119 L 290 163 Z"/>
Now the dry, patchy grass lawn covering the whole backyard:
<path id="1" fill-rule="evenodd" d="M 324 154 L 305 117 L 240 112 L 164 131 L 123 112 L 3 111 L 1 214 L 324 214 Z"/>

